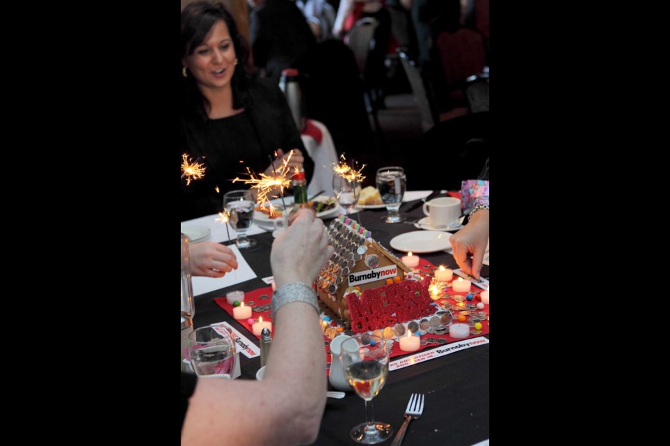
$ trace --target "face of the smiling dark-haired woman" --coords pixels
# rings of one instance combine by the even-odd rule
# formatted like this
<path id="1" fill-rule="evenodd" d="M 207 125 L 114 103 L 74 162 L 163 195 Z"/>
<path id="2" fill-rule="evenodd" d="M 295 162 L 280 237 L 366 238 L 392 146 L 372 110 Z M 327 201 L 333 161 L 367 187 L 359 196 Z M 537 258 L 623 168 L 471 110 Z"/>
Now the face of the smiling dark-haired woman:
<path id="1" fill-rule="evenodd" d="M 182 61 L 198 85 L 205 89 L 230 88 L 235 72 L 235 47 L 228 26 L 219 20 L 204 41 Z"/>

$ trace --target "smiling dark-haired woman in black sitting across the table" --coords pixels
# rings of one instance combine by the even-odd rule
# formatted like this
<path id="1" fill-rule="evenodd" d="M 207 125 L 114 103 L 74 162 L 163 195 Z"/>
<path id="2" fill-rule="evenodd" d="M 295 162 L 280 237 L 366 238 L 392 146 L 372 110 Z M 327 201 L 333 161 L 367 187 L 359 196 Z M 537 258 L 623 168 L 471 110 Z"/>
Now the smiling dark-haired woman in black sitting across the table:
<path id="1" fill-rule="evenodd" d="M 202 180 L 181 184 L 181 221 L 217 213 L 231 181 L 251 169 L 272 174 L 290 155 L 290 165 L 311 178 L 313 162 L 276 81 L 244 71 L 248 51 L 221 3 L 191 3 L 181 11 L 181 153 L 201 158 Z M 239 187 L 239 185 L 235 185 Z M 216 192 L 219 190 L 220 192 Z"/>

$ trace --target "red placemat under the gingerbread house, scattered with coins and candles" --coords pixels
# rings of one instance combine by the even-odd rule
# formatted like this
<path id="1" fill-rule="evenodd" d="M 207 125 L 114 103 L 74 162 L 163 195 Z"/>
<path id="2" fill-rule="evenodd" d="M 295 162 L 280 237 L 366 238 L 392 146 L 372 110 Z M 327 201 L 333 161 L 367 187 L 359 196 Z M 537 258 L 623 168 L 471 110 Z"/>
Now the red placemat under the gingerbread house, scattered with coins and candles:
<path id="1" fill-rule="evenodd" d="M 415 268 L 415 271 L 420 271 L 420 274 L 422 276 L 426 277 L 426 280 L 430 280 L 433 268 L 435 268 L 433 263 L 430 263 L 429 261 L 426 261 L 425 259 L 421 259 L 421 260 L 419 260 L 419 267 Z M 458 277 L 456 277 L 454 275 L 454 279 L 458 279 Z M 477 288 L 477 286 L 472 285 L 472 291 L 476 291 L 477 295 L 478 295 L 483 290 Z M 265 299 L 265 300 L 260 300 L 260 296 L 264 295 L 264 294 L 268 295 L 269 298 Z M 454 293 L 454 291 L 452 291 L 452 289 L 449 288 L 448 292 L 446 294 L 441 295 L 440 299 L 438 299 L 436 302 L 440 302 L 440 300 L 449 299 L 450 295 L 456 295 L 456 294 L 459 294 L 459 293 Z M 257 289 L 257 290 L 254 290 L 254 291 L 250 291 L 249 293 L 244 293 L 244 301 L 245 302 L 253 302 L 252 307 L 255 307 L 257 305 L 269 304 L 271 302 L 271 298 L 272 298 L 272 288 L 270 286 L 268 286 L 266 288 L 261 288 L 261 289 Z M 228 314 L 230 314 L 230 316 L 232 316 L 232 305 L 228 305 L 228 301 L 225 299 L 225 297 L 215 298 L 214 302 L 216 302 L 216 304 L 219 307 L 225 309 L 225 311 L 228 312 Z M 454 304 L 454 308 L 452 308 L 452 313 L 454 314 L 454 323 L 458 323 L 457 319 L 458 319 L 459 310 L 455 308 L 456 302 L 452 299 L 449 299 L 449 302 Z M 244 305 L 247 305 L 247 304 L 245 303 Z M 440 309 L 438 307 L 435 307 L 435 312 L 438 312 L 438 311 L 440 311 Z M 479 310 L 477 310 L 477 311 L 479 311 Z M 484 310 L 482 310 L 482 311 L 486 312 L 486 314 L 489 314 L 489 305 L 484 305 Z M 267 316 L 269 313 L 270 312 L 263 312 L 263 313 L 252 312 L 251 317 L 255 318 L 255 319 L 258 319 L 260 316 L 262 316 L 263 321 L 272 322 L 273 319 L 271 317 Z M 432 316 L 426 316 L 427 319 L 430 319 L 431 317 Z M 237 322 L 241 323 L 241 325 L 244 325 L 244 328 L 246 328 L 248 330 L 249 334 L 251 334 L 253 336 L 253 331 L 251 330 L 251 325 L 246 320 L 245 321 L 237 320 Z M 274 330 L 274 327 L 273 327 L 273 330 Z M 480 333 L 480 334 L 470 334 L 465 339 L 470 339 L 470 338 L 473 338 L 473 337 L 483 336 L 484 334 L 489 334 L 489 321 L 482 321 L 482 333 Z M 422 339 L 429 338 L 429 337 L 436 338 L 436 339 L 445 339 L 447 341 L 447 344 L 450 344 L 452 342 L 461 340 L 461 339 L 454 339 L 454 338 L 450 337 L 449 334 L 431 334 L 431 333 L 424 334 L 422 336 Z M 260 339 L 259 336 L 256 336 L 256 338 Z M 325 337 L 325 336 L 324 336 L 324 339 L 325 339 L 325 341 L 330 340 L 330 339 L 328 339 L 328 337 Z M 439 346 L 438 344 L 428 344 L 426 346 L 421 346 L 421 348 L 419 348 L 418 351 L 426 350 L 427 348 L 435 348 L 435 347 L 438 347 L 438 346 Z M 329 346 L 326 346 L 326 353 L 328 353 L 328 361 L 330 362 L 330 348 L 329 348 Z M 392 351 L 389 352 L 389 355 L 390 355 L 390 357 L 396 357 L 396 356 L 410 355 L 412 353 L 416 353 L 416 352 L 401 351 L 400 344 L 398 342 L 394 342 Z"/>

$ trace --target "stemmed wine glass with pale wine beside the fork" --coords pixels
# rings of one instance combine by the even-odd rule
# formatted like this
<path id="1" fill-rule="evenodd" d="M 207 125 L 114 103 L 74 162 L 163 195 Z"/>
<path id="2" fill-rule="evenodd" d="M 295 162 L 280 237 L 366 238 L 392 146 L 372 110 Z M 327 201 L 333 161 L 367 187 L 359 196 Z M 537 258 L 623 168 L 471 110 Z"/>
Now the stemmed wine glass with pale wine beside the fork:
<path id="1" fill-rule="evenodd" d="M 356 443 L 375 445 L 388 440 L 393 428 L 385 422 L 374 421 L 372 399 L 384 387 L 389 377 L 389 350 L 386 341 L 370 334 L 357 334 L 341 345 L 340 361 L 344 374 L 354 392 L 365 400 L 366 422 L 351 430 Z"/>

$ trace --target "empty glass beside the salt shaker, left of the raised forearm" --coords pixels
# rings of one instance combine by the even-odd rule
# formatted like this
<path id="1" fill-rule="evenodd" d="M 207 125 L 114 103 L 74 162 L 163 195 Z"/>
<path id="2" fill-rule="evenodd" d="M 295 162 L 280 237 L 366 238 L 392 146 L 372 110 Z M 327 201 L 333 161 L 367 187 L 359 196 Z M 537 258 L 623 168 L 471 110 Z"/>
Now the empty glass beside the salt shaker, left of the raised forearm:
<path id="1" fill-rule="evenodd" d="M 223 325 L 207 325 L 188 336 L 188 357 L 195 374 L 230 378 L 235 369 L 235 341 Z"/>

